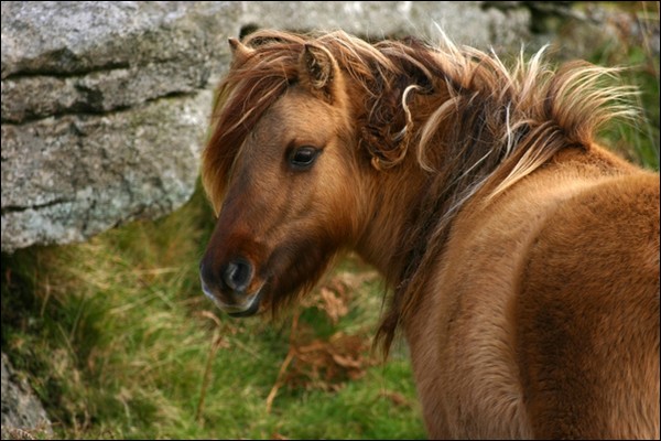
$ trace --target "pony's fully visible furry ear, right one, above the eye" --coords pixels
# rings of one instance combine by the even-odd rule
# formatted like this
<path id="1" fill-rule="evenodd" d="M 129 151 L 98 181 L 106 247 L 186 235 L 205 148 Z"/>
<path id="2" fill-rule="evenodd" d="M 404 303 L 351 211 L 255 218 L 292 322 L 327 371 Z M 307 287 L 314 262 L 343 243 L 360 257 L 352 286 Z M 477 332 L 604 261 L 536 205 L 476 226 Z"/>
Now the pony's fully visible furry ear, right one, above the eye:
<path id="1" fill-rule="evenodd" d="M 305 44 L 299 60 L 299 75 L 303 87 L 329 103 L 340 93 L 339 67 L 324 47 Z"/>

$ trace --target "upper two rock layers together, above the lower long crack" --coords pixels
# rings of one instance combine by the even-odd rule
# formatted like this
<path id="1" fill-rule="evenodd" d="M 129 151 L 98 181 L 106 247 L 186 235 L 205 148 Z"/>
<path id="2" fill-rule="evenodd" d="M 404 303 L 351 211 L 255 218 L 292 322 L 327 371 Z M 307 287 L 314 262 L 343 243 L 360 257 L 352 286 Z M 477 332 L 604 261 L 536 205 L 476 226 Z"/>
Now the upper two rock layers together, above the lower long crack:
<path id="1" fill-rule="evenodd" d="M 229 24 L 238 8 L 228 2 L 51 3 L 2 4 L 3 121 L 204 88 L 226 52 L 219 29 L 238 32 Z"/>

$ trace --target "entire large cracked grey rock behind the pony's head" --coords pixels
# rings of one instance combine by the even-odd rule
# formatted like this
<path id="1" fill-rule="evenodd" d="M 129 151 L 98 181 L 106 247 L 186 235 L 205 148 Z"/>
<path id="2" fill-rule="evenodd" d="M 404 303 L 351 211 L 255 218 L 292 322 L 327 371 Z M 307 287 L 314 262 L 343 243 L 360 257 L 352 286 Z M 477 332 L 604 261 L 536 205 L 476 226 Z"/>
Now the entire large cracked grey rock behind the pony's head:
<path id="1" fill-rule="evenodd" d="M 518 45 L 529 12 L 511 3 L 2 2 L 2 251 L 181 206 L 197 178 L 206 90 L 241 30 L 434 40 L 437 24 L 459 43 Z"/>

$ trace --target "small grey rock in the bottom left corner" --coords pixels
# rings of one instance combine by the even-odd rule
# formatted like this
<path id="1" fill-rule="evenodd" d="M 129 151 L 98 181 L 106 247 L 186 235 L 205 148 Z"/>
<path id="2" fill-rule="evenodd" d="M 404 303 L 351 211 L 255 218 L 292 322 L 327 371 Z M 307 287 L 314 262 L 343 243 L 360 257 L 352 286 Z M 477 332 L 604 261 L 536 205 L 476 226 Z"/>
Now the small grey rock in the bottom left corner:
<path id="1" fill-rule="evenodd" d="M 53 437 L 53 428 L 28 381 L 12 370 L 2 353 L 2 439 Z"/>

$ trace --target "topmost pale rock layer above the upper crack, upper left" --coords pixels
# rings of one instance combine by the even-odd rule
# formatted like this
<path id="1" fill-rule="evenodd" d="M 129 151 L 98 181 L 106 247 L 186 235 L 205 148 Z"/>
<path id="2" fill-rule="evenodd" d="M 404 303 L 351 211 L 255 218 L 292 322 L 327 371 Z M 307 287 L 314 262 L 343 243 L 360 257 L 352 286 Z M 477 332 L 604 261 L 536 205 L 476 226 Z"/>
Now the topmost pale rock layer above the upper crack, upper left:
<path id="1" fill-rule="evenodd" d="M 209 36 L 235 33 L 238 10 L 229 1 L 3 1 L 2 78 L 196 64 L 209 54 Z"/>

